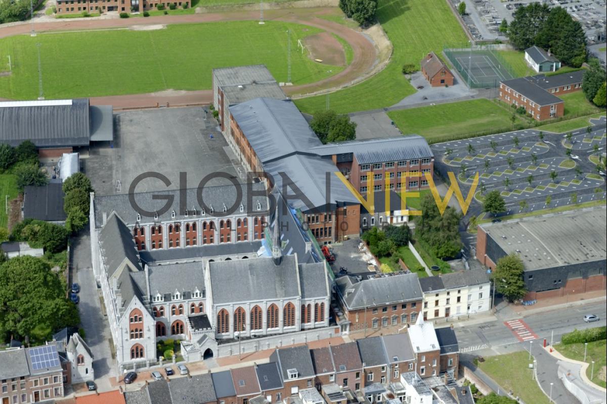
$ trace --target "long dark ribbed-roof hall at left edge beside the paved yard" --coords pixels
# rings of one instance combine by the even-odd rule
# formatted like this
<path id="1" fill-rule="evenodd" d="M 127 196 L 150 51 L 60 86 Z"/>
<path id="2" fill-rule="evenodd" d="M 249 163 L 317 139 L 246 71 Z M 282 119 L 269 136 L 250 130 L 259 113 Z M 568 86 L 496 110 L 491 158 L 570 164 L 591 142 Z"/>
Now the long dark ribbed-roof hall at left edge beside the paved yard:
<path id="1" fill-rule="evenodd" d="M 41 158 L 111 142 L 112 106 L 90 105 L 88 98 L 0 102 L 0 143 L 16 147 L 27 140 Z"/>

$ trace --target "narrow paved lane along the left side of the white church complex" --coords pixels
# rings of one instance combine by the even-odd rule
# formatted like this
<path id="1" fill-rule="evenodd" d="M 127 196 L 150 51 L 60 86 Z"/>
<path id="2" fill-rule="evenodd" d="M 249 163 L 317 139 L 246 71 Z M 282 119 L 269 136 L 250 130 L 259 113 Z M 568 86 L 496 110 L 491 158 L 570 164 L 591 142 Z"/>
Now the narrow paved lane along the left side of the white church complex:
<path id="1" fill-rule="evenodd" d="M 101 290 L 93 275 L 90 261 L 90 236 L 88 227 L 72 240 L 72 277 L 80 283 L 80 322 L 86 333 L 86 342 L 93 352 L 93 369 L 98 391 L 109 391 L 109 377 L 116 376 L 117 364 L 110 351 L 110 328 L 101 311 Z"/>

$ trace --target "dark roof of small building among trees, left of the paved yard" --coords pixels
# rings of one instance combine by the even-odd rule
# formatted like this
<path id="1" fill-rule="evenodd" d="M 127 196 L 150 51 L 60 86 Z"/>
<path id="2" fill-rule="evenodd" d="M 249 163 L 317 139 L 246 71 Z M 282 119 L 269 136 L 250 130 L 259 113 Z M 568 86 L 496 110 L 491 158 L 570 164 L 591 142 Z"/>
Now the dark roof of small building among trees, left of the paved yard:
<path id="1" fill-rule="evenodd" d="M 63 222 L 67 218 L 63 210 L 65 196 L 62 185 L 58 182 L 51 182 L 42 187 L 32 185 L 25 187 L 23 192 L 24 219 Z"/>

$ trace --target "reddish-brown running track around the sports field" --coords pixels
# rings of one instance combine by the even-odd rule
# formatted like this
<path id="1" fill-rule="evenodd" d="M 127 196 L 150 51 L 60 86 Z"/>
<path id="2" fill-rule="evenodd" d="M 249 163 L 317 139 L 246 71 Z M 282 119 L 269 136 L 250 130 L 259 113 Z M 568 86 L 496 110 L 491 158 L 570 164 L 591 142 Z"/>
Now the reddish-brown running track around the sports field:
<path id="1" fill-rule="evenodd" d="M 334 33 L 340 36 L 350 44 L 353 50 L 353 61 L 351 64 L 334 76 L 310 84 L 285 87 L 287 95 L 305 94 L 313 91 L 325 90 L 328 88 L 339 87 L 347 84 L 354 79 L 370 71 L 375 65 L 378 57 L 377 50 L 371 41 L 365 38 L 362 33 L 355 31 L 337 22 L 318 18 L 319 15 L 327 15 L 337 10 L 337 8 L 305 8 L 288 10 L 267 10 L 264 12 L 266 21 L 276 20 L 283 22 L 293 22 L 297 24 L 310 25 L 317 27 L 328 33 Z M 126 28 L 132 25 L 154 25 L 154 24 L 191 24 L 197 22 L 214 21 L 242 21 L 256 20 L 259 18 L 259 12 L 227 12 L 227 13 L 205 13 L 191 15 L 168 15 L 149 18 L 128 18 L 128 19 L 97 19 L 97 20 L 78 20 L 69 21 L 56 20 L 52 22 L 38 22 L 35 24 L 36 31 L 83 31 L 108 28 Z M 0 27 L 0 38 L 12 35 L 29 34 L 30 24 L 19 24 L 8 27 Z M 210 74 L 210 73 L 209 73 Z M 93 105 L 110 104 L 116 109 L 124 108 L 153 108 L 159 106 L 175 105 L 200 105 L 209 104 L 212 99 L 211 90 L 200 91 L 160 91 L 157 93 L 129 94 L 123 96 L 104 96 L 91 97 L 90 102 Z M 158 104 L 158 105 L 157 105 Z"/>

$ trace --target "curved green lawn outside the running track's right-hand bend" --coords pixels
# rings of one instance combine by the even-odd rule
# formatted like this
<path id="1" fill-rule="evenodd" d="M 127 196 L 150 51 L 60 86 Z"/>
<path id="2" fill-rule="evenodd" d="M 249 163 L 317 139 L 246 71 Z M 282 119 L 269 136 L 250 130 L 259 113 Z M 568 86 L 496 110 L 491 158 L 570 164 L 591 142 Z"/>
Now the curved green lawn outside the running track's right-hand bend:
<path id="1" fill-rule="evenodd" d="M 329 95 L 332 110 L 339 113 L 389 107 L 415 93 L 402 75 L 402 65 L 419 61 L 429 51 L 441 53 L 443 45 L 461 44 L 467 38 L 444 0 L 379 0 L 378 21 L 394 47 L 392 59 L 378 75 L 361 84 Z M 324 110 L 327 96 L 296 101 L 308 113 Z"/>

